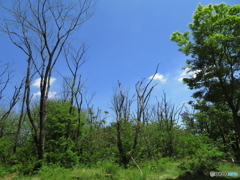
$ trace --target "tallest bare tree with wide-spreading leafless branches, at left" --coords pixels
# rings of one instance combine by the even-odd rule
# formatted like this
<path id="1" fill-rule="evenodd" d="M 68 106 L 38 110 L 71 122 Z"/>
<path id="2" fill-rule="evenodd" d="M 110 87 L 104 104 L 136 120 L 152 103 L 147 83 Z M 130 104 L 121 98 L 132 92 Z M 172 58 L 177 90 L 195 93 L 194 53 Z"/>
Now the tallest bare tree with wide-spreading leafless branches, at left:
<path id="1" fill-rule="evenodd" d="M 52 69 L 73 32 L 92 16 L 90 9 L 94 5 L 92 0 L 15 0 L 12 8 L 1 4 L 11 18 L 4 19 L 0 30 L 8 34 L 12 43 L 27 56 L 26 106 L 28 118 L 34 129 L 33 136 L 39 160 L 35 169 L 41 167 L 44 159 L 47 99 Z M 30 109 L 31 65 L 40 77 L 39 128 L 31 116 Z"/>

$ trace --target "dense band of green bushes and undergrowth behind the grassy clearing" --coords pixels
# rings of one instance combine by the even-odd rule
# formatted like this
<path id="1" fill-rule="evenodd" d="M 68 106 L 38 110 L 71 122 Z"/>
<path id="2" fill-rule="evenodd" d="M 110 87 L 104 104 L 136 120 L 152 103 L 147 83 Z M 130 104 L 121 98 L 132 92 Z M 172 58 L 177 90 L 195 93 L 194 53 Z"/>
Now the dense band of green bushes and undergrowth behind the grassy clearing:
<path id="1" fill-rule="evenodd" d="M 87 110 L 83 111 L 81 113 L 81 136 L 76 139 L 78 127 L 77 109 L 74 107 L 74 113 L 70 115 L 70 103 L 65 102 L 63 104 L 60 100 L 49 100 L 48 106 L 45 165 L 71 168 L 84 164 L 86 166 L 99 166 L 107 161 L 112 164 L 122 164 L 117 148 L 116 123 L 109 125 L 98 122 L 91 123 Z M 35 107 L 37 108 L 37 105 Z M 204 114 L 205 112 L 194 114 L 196 116 L 194 117 L 195 129 L 202 128 L 201 119 L 205 116 Z M 12 120 L 17 124 L 17 116 L 16 113 L 13 116 L 15 119 L 12 117 L 13 119 L 9 119 L 9 121 Z M 207 129 L 192 131 L 186 118 L 185 113 L 186 128 L 182 128 L 175 123 L 172 125 L 171 130 L 167 130 L 169 124 L 164 119 L 141 124 L 139 144 L 133 158 L 138 163 L 150 160 L 158 161 L 165 157 L 171 157 L 175 160 L 184 159 L 186 162 L 183 162 L 179 168 L 193 173 L 206 173 L 209 170 L 216 170 L 218 162 L 224 158 L 223 156 L 230 159 L 227 152 L 232 155 L 232 151 L 224 152 L 221 132 L 214 132 L 216 129 L 212 129 L 213 132 L 210 131 L 210 134 L 208 134 Z M 69 120 L 71 120 L 71 131 L 67 138 L 66 132 Z M 208 119 L 205 119 L 205 121 L 210 123 Z M 6 168 L 8 172 L 31 173 L 37 161 L 36 150 L 31 136 L 31 126 L 27 122 L 24 123 L 17 150 L 14 154 L 12 153 L 13 135 L 16 130 L 14 123 L 11 124 L 12 126 L 5 127 L 5 134 L 3 134 L 0 141 L 2 168 Z M 126 154 L 131 151 L 135 127 L 134 119 L 122 121 L 123 147 Z M 12 132 L 12 135 L 7 133 L 9 131 Z M 211 133 L 214 133 L 214 136 Z M 235 142 L 231 141 L 231 143 Z M 229 142 L 226 145 L 231 146 L 231 143 Z M 128 167 L 130 166 L 135 166 L 133 161 L 129 162 Z"/>

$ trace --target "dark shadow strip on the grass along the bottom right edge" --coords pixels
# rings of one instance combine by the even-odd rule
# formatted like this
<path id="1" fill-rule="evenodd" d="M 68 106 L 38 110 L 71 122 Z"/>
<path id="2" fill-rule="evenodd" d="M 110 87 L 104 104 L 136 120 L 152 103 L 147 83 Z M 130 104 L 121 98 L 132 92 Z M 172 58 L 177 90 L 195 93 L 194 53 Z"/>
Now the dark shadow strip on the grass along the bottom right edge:
<path id="1" fill-rule="evenodd" d="M 214 176 L 211 177 L 210 174 L 209 175 L 192 175 L 192 174 L 183 174 L 178 176 L 175 179 L 172 178 L 167 178 L 166 180 L 229 180 L 229 179 L 233 179 L 233 180 L 240 180 L 240 177 L 224 177 L 224 176 Z"/>

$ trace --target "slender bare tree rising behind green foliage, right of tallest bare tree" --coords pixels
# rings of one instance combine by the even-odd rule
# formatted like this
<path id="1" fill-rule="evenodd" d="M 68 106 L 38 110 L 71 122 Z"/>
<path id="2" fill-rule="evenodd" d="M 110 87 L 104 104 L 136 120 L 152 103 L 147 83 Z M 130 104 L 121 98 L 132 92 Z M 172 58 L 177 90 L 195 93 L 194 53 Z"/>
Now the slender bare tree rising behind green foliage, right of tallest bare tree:
<path id="1" fill-rule="evenodd" d="M 82 76 L 79 73 L 80 67 L 86 62 L 85 54 L 87 51 L 87 46 L 85 43 L 82 43 L 81 46 L 75 50 L 75 48 L 71 44 L 65 45 L 63 49 L 63 54 L 65 61 L 67 63 L 68 69 L 70 70 L 71 77 L 62 76 L 63 78 L 63 101 L 70 102 L 69 114 L 73 114 L 74 105 L 77 106 L 78 113 L 78 127 L 77 127 L 77 139 L 79 139 L 81 131 L 81 111 L 83 104 L 83 94 L 82 89 L 84 87 L 84 83 L 86 81 L 82 81 Z M 71 119 L 68 120 L 67 130 L 66 130 L 66 138 L 70 136 L 70 125 Z"/>

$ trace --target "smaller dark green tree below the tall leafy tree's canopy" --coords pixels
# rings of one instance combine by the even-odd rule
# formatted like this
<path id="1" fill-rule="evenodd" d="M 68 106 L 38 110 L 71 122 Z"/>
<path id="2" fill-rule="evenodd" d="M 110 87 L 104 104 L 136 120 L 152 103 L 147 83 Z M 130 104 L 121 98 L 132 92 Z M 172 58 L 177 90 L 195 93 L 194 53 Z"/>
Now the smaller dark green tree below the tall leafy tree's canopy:
<path id="1" fill-rule="evenodd" d="M 182 116 L 186 128 L 195 135 L 207 135 L 225 153 L 236 154 L 239 142 L 234 133 L 233 117 L 228 105 L 197 100 L 193 107 L 196 112 L 191 113 L 191 117 L 187 117 L 185 113 Z"/>

